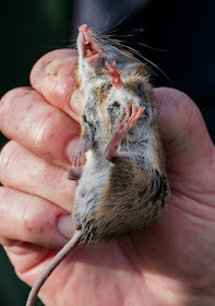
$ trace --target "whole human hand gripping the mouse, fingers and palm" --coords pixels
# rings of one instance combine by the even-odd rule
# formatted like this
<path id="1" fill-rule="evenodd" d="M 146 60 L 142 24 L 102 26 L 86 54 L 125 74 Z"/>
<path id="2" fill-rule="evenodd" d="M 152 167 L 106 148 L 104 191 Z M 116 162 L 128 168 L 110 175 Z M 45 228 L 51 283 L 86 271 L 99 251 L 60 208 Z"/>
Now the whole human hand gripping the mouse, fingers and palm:
<path id="1" fill-rule="evenodd" d="M 75 183 L 67 179 L 80 134 L 74 64 L 73 50 L 49 52 L 32 70 L 32 89 L 0 102 L 0 129 L 11 139 L 0 153 L 0 243 L 29 285 L 74 233 Z M 214 305 L 215 149 L 186 94 L 154 92 L 169 209 L 139 233 L 79 247 L 40 290 L 45 305 Z"/>

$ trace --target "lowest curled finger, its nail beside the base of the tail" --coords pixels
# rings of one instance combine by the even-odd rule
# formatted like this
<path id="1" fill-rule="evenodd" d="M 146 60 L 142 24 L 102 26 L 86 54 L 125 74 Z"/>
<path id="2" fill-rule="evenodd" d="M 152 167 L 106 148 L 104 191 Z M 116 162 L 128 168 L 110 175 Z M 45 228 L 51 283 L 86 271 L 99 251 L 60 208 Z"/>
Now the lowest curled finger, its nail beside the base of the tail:
<path id="1" fill-rule="evenodd" d="M 11 244 L 62 247 L 74 233 L 71 215 L 45 199 L 1 187 L 0 203 L 0 235 Z"/>

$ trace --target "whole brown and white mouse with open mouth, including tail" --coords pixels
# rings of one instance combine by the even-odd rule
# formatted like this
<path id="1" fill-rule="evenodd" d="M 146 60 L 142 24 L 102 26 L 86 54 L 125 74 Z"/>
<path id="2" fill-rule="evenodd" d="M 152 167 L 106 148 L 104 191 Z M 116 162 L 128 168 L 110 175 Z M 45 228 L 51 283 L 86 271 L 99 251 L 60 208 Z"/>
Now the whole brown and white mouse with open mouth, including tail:
<path id="1" fill-rule="evenodd" d="M 153 89 L 144 64 L 83 24 L 76 84 L 84 93 L 82 141 L 68 177 L 77 180 L 76 232 L 34 284 L 26 306 L 80 243 L 105 243 L 142 229 L 168 207 L 169 183 Z"/>

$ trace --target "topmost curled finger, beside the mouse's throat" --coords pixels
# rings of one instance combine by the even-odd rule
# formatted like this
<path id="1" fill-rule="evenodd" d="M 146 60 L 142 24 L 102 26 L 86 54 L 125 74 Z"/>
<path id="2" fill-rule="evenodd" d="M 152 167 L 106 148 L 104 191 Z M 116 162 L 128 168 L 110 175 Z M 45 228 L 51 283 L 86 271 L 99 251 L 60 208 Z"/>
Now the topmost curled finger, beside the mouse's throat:
<path id="1" fill-rule="evenodd" d="M 41 57 L 31 72 L 32 86 L 41 93 L 53 106 L 76 120 L 77 109 L 71 106 L 71 96 L 76 89 L 74 69 L 75 50 L 53 50 Z"/>

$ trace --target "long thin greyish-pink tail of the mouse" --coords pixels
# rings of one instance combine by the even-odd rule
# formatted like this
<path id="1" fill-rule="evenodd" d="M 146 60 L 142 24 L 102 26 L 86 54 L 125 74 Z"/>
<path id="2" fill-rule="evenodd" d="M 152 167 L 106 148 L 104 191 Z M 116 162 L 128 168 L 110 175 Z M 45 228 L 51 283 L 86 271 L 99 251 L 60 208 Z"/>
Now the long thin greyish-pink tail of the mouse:
<path id="1" fill-rule="evenodd" d="M 75 248 L 75 246 L 81 242 L 81 238 L 82 232 L 76 231 L 69 243 L 67 243 L 67 245 L 53 257 L 48 267 L 45 268 L 45 270 L 41 272 L 35 284 L 33 285 L 25 306 L 35 305 L 37 294 L 43 284 L 46 282 L 51 272 L 58 267 L 58 264 L 72 251 L 72 249 Z"/>

